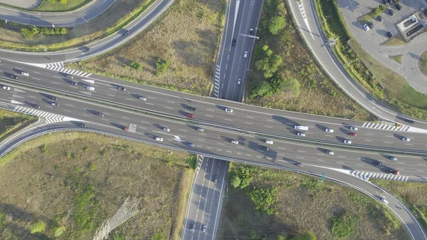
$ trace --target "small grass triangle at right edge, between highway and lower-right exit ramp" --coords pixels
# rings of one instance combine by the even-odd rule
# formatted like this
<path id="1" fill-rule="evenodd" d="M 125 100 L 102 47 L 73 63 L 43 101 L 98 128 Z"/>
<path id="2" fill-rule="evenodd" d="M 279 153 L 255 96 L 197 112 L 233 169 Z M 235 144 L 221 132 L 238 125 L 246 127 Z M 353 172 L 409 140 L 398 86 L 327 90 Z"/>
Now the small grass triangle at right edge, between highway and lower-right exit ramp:
<path id="1" fill-rule="evenodd" d="M 396 196 L 427 231 L 427 187 L 425 183 L 371 179 L 372 183 Z"/>

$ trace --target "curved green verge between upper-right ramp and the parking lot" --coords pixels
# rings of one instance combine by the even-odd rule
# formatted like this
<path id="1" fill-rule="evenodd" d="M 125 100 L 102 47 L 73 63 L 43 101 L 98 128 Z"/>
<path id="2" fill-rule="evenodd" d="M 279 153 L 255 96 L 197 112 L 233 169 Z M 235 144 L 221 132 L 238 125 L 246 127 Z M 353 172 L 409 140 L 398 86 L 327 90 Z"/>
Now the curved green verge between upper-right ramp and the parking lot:
<path id="1" fill-rule="evenodd" d="M 390 71 L 363 50 L 349 33 L 337 3 L 315 0 L 315 6 L 327 38 L 338 39 L 332 50 L 347 73 L 382 103 L 404 114 L 427 119 L 427 95 L 418 93 L 401 75 Z M 371 15 L 375 14 L 371 12 Z"/>

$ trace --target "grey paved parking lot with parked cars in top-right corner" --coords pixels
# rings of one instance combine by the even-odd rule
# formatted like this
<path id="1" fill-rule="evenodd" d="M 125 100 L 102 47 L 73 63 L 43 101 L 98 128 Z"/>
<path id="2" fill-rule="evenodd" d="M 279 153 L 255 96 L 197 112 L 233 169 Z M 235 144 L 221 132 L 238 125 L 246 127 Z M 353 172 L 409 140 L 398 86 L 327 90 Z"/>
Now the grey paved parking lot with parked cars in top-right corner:
<path id="1" fill-rule="evenodd" d="M 364 15 L 368 14 L 374 7 L 384 4 L 382 0 L 337 0 L 337 4 L 344 15 L 344 19 L 347 21 L 347 25 L 352 24 L 349 28 L 352 34 L 356 36 L 357 41 L 359 43 L 367 41 L 370 44 L 375 43 L 375 45 L 379 45 L 389 39 L 387 32 L 391 32 L 393 36 L 399 34 L 396 24 L 415 11 L 420 10 L 423 6 L 427 6 L 425 0 L 401 0 L 402 9 L 399 11 L 391 1 L 387 7 L 394 11 L 394 16 L 391 16 L 389 11 L 386 10 L 380 14 L 383 19 L 381 22 L 378 19 L 371 19 L 369 16 Z M 363 24 L 366 24 L 368 19 L 374 24 L 374 29 L 365 31 Z M 362 43 L 362 45 L 364 44 Z"/>

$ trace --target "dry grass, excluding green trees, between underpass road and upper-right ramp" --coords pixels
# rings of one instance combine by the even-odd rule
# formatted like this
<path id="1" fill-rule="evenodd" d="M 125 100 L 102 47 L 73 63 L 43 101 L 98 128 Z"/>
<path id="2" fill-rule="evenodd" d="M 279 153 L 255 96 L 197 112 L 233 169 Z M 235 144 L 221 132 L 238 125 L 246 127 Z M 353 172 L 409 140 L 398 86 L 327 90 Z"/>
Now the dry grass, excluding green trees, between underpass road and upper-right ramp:
<path id="1" fill-rule="evenodd" d="M 266 8 L 264 8 L 266 9 Z M 251 86 L 265 81 L 263 73 L 257 71 L 254 63 L 259 59 L 254 56 L 251 63 L 253 72 L 249 73 L 246 86 L 247 103 L 268 108 L 293 110 L 304 113 L 329 115 L 334 117 L 350 118 L 354 120 L 368 120 L 371 115 L 359 105 L 350 100 L 333 80 L 322 71 L 315 61 L 305 41 L 292 22 L 288 6 L 285 6 L 286 26 L 280 33 L 271 35 L 268 30 L 261 31 L 257 46 L 268 45 L 273 53 L 278 54 L 283 63 L 278 73 L 283 78 L 295 78 L 300 83 L 300 94 L 294 95 L 285 91 L 278 91 L 268 97 L 250 99 Z M 266 21 L 267 14 L 263 14 L 261 22 Z M 263 28 L 260 26 L 260 28 Z"/>

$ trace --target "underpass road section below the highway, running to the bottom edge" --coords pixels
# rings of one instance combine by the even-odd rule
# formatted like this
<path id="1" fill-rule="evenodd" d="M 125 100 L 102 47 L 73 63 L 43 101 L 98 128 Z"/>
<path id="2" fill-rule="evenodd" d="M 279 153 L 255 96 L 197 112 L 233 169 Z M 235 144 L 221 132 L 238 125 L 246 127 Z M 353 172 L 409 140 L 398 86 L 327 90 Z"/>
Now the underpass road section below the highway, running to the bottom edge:
<path id="1" fill-rule="evenodd" d="M 216 239 L 227 169 L 226 161 L 199 157 L 181 239 Z M 204 226 L 206 232 L 203 231 Z"/>

